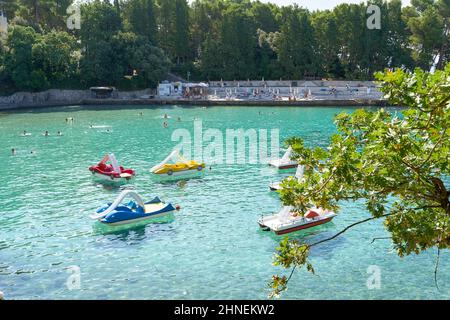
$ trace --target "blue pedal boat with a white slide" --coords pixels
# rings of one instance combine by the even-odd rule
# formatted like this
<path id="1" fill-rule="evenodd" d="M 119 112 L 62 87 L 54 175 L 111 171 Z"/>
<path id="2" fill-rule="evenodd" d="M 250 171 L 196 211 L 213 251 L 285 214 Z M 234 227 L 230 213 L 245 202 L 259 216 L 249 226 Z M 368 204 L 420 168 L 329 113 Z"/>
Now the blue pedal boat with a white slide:
<path id="1" fill-rule="evenodd" d="M 123 204 L 122 201 L 126 197 L 131 197 L 133 200 L 128 202 L 128 204 Z M 160 218 L 176 210 L 179 210 L 179 206 L 174 207 L 170 203 L 164 203 L 158 197 L 144 203 L 136 192 L 125 190 L 120 193 L 113 203 L 101 207 L 90 218 L 105 225 L 120 226 Z"/>

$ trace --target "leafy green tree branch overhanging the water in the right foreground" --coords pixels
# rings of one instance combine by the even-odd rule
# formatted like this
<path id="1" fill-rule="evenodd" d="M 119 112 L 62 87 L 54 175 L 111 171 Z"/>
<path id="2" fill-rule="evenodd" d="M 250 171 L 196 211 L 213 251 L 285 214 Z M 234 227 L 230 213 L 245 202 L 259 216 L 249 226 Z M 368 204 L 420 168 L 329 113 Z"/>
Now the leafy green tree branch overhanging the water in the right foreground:
<path id="1" fill-rule="evenodd" d="M 362 199 L 371 217 L 316 243 L 283 240 L 274 264 L 292 270 L 289 277 L 272 278 L 272 297 L 287 289 L 296 269 L 314 270 L 312 247 L 371 220 L 384 219 L 400 257 L 450 248 L 450 64 L 434 74 L 417 69 L 376 76 L 386 98 L 407 109 L 400 115 L 384 109 L 342 113 L 327 149 L 289 139 L 305 175 L 285 180 L 281 191 L 283 203 L 299 212 L 311 204 L 337 212 L 342 200 Z"/>

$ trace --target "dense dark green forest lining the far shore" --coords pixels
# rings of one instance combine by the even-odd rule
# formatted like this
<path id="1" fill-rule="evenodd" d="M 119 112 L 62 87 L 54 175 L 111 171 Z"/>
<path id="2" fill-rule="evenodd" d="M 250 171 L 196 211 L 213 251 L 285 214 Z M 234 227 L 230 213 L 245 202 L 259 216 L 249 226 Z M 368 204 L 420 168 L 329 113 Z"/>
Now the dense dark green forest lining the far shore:
<path id="1" fill-rule="evenodd" d="M 191 80 L 372 79 L 384 68 L 450 60 L 450 0 L 373 0 L 309 11 L 250 0 L 0 0 L 0 93 Z"/>

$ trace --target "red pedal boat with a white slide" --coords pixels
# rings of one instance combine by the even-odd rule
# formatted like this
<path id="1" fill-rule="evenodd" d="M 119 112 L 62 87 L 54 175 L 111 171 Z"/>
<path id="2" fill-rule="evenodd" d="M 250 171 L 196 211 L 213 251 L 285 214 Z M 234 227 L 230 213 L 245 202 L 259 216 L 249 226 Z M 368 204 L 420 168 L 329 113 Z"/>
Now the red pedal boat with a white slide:
<path id="1" fill-rule="evenodd" d="M 110 162 L 110 164 L 108 164 Z M 92 175 L 102 181 L 114 183 L 127 183 L 135 177 L 135 171 L 132 169 L 124 169 L 117 162 L 114 154 L 106 155 L 102 161 L 95 166 L 89 168 Z"/>

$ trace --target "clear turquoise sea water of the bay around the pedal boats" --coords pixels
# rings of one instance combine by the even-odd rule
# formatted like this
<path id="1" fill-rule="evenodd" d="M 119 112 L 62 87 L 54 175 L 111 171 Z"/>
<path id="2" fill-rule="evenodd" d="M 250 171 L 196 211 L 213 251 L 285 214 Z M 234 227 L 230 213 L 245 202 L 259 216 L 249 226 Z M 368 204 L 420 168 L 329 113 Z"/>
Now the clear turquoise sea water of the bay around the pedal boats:
<path id="1" fill-rule="evenodd" d="M 0 290 L 8 299 L 267 298 L 271 276 L 283 273 L 271 264 L 281 238 L 260 231 L 256 220 L 278 211 L 268 185 L 286 174 L 260 164 L 216 164 L 203 179 L 158 183 L 148 169 L 175 145 L 173 130 L 192 132 L 194 119 L 204 130 L 278 128 L 281 139 L 297 135 L 325 146 L 342 110 L 70 107 L 0 114 Z M 164 114 L 172 117 L 167 129 Z M 23 130 L 33 135 L 21 137 Z M 45 130 L 52 136 L 43 137 Z M 58 130 L 64 136 L 55 136 Z M 140 194 L 180 204 L 181 212 L 114 232 L 98 228 L 89 214 L 120 190 L 94 182 L 87 168 L 109 151 L 137 171 L 133 186 Z M 333 223 L 290 237 L 317 241 L 367 216 L 361 204 L 348 203 Z M 295 273 L 283 298 L 449 299 L 448 251 L 441 253 L 438 291 L 436 250 L 400 259 L 390 240 L 371 244 L 386 235 L 373 222 L 314 248 L 316 275 Z M 371 265 L 380 268 L 380 289 L 366 286 Z M 71 266 L 81 271 L 76 290 L 66 286 Z"/>

